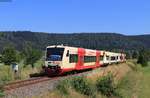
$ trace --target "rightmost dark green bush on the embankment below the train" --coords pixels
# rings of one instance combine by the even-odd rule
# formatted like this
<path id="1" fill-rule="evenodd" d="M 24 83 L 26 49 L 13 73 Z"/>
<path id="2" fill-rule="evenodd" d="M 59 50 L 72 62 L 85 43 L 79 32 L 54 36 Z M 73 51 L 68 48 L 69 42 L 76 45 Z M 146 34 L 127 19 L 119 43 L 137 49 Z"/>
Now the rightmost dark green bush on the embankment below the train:
<path id="1" fill-rule="evenodd" d="M 107 97 L 118 96 L 117 88 L 113 81 L 113 75 L 111 74 L 100 77 L 96 81 L 96 88 L 101 94 Z"/>

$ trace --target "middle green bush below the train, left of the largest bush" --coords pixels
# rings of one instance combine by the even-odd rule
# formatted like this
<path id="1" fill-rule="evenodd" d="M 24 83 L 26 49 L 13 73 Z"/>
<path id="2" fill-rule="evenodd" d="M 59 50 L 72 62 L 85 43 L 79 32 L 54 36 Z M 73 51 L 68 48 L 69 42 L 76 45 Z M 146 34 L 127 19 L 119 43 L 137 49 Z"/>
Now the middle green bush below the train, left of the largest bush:
<path id="1" fill-rule="evenodd" d="M 75 77 L 71 81 L 71 85 L 75 90 L 79 91 L 81 94 L 91 96 L 93 95 L 93 89 L 91 84 L 88 83 L 83 76 Z"/>

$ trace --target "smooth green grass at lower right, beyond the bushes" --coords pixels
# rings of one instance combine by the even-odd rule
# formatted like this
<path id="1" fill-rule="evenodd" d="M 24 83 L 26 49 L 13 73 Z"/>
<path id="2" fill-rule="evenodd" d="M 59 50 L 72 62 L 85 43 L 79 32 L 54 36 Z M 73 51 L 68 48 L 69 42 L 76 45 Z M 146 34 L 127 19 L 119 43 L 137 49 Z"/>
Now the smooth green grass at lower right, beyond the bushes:
<path id="1" fill-rule="evenodd" d="M 132 69 L 120 83 L 120 93 L 123 98 L 149 98 L 150 96 L 150 62 L 142 67 L 135 62 L 129 62 Z"/>

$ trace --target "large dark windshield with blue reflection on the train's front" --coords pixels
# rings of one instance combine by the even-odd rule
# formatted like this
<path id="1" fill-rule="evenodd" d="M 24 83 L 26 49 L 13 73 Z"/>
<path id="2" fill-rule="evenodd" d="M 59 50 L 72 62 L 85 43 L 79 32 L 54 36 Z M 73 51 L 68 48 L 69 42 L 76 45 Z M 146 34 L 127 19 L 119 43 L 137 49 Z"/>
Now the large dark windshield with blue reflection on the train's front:
<path id="1" fill-rule="evenodd" d="M 47 48 L 46 61 L 62 61 L 64 48 Z"/>

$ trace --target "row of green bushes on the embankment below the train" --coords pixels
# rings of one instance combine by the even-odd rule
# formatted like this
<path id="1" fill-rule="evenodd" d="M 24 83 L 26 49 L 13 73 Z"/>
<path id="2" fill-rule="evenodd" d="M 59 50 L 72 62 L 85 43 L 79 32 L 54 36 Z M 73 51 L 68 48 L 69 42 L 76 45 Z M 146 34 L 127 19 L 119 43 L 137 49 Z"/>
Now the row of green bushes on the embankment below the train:
<path id="1" fill-rule="evenodd" d="M 96 97 L 97 92 L 107 97 L 121 97 L 118 92 L 117 86 L 114 84 L 114 80 L 111 74 L 99 77 L 97 82 L 94 84 L 90 83 L 86 76 L 75 76 L 71 79 L 61 81 L 57 89 L 60 91 L 62 95 L 69 95 L 68 88 L 72 88 L 80 94 Z"/>

